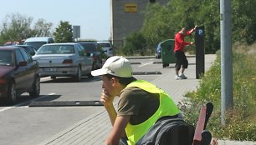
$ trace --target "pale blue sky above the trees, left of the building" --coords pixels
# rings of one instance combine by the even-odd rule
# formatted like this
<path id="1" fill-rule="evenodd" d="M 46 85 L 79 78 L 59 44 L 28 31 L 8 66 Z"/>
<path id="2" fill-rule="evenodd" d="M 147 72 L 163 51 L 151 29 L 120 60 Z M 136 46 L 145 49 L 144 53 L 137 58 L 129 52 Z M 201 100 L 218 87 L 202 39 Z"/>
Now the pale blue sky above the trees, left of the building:
<path id="1" fill-rule="evenodd" d="M 1 0 L 0 26 L 8 14 L 19 13 L 43 18 L 57 28 L 60 21 L 80 26 L 83 39 L 108 40 L 110 38 L 110 0 Z M 32 24 L 33 24 L 32 23 Z"/>

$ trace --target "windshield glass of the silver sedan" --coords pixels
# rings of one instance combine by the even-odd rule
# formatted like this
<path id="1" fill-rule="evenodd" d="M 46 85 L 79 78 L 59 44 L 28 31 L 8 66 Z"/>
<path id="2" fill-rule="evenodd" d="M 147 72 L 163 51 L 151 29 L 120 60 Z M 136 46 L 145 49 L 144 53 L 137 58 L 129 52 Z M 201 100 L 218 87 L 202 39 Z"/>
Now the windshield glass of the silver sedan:
<path id="1" fill-rule="evenodd" d="M 74 53 L 73 45 L 44 45 L 38 49 L 37 54 L 71 54 Z"/>

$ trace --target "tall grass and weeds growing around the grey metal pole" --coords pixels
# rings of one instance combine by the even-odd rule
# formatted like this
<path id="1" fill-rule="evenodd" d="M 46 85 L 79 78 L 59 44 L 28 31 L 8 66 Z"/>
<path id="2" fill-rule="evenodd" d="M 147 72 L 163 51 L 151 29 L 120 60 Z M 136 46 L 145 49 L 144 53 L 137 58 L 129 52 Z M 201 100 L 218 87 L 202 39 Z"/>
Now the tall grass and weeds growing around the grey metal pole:
<path id="1" fill-rule="evenodd" d="M 221 60 L 217 59 L 200 82 L 197 92 L 188 92 L 181 109 L 188 122 L 196 123 L 198 108 L 206 102 L 214 104 L 207 129 L 217 138 L 256 141 L 256 51 L 253 46 L 243 44 L 233 47 L 233 110 L 221 125 Z M 189 105 L 187 105 L 189 104 Z M 184 107 L 185 106 L 185 107 Z M 189 108 L 187 108 L 189 107 Z"/>

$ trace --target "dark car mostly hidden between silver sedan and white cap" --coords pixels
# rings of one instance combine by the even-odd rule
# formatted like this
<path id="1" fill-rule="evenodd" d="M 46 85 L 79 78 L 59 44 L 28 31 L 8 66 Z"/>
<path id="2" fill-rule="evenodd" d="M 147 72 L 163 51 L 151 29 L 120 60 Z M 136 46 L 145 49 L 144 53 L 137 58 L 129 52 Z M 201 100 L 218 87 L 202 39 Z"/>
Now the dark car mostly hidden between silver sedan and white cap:
<path id="1" fill-rule="evenodd" d="M 83 48 L 84 52 L 90 52 L 93 54 L 93 70 L 99 69 L 102 67 L 104 55 L 103 51 L 99 50 L 101 49 L 99 45 L 96 42 L 77 42 L 79 43 Z"/>

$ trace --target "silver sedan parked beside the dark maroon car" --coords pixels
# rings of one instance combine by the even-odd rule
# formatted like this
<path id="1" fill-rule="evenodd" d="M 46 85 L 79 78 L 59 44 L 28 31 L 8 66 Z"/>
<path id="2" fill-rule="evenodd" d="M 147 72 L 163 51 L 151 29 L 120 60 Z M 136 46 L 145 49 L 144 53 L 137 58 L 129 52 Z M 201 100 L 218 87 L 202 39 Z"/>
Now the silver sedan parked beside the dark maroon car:
<path id="1" fill-rule="evenodd" d="M 92 77 L 92 54 L 84 53 L 83 47 L 78 43 L 44 44 L 33 59 L 39 63 L 41 77 L 74 77 L 77 82 L 82 76 Z"/>

